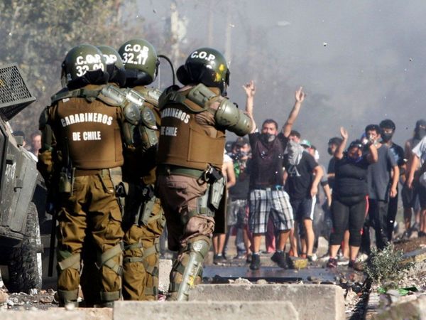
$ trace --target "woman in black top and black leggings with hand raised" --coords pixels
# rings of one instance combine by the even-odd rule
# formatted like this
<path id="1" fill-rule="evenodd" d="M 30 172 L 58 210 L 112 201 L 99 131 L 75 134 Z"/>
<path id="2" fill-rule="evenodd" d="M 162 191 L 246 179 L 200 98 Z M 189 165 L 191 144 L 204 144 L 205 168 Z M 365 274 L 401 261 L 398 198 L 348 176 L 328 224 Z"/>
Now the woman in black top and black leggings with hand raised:
<path id="1" fill-rule="evenodd" d="M 377 162 L 377 149 L 374 144 L 368 143 L 368 152 L 363 154 L 363 144 L 355 140 L 344 152 L 348 133 L 344 127 L 340 128 L 340 133 L 343 140 L 334 153 L 336 176 L 332 195 L 333 232 L 327 267 L 337 267 L 337 251 L 349 225 L 349 267 L 359 269 L 355 260 L 361 245 L 361 229 L 366 214 L 367 169 L 370 164 Z"/>

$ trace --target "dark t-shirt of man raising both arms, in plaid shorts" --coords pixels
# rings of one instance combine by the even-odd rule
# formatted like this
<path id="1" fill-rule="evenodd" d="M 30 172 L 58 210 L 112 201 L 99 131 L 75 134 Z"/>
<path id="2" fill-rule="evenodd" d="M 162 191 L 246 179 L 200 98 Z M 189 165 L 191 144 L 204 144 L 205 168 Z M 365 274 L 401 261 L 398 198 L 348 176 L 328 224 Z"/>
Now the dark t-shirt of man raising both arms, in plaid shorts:
<path id="1" fill-rule="evenodd" d="M 251 146 L 250 188 L 283 186 L 283 156 L 288 138 L 280 132 L 273 142 L 259 132 L 249 134 Z"/>

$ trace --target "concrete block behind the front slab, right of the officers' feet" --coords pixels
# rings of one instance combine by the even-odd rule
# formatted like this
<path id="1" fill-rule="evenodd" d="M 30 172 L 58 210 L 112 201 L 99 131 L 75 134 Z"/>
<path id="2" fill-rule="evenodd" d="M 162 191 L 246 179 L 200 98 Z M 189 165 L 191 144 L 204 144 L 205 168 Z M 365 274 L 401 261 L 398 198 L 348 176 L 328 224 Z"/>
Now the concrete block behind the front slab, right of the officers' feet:
<path id="1" fill-rule="evenodd" d="M 345 319 L 344 290 L 329 284 L 200 284 L 190 301 L 291 302 L 300 319 Z"/>

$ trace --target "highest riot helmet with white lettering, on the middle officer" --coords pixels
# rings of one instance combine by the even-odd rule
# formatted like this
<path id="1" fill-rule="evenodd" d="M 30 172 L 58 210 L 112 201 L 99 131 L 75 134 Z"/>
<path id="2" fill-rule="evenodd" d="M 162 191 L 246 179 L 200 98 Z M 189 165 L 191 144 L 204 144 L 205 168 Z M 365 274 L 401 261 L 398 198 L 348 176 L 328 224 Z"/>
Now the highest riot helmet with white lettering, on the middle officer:
<path id="1" fill-rule="evenodd" d="M 157 77 L 160 64 L 157 52 L 151 43 L 143 39 L 126 41 L 119 48 L 126 68 L 126 85 L 149 85 Z"/>

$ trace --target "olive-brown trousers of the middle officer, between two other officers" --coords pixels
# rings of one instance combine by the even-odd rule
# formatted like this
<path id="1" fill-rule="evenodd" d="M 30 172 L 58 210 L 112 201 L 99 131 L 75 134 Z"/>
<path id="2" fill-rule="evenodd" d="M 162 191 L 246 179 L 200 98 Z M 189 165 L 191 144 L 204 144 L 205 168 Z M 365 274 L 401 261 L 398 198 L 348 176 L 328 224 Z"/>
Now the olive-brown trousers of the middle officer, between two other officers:
<path id="1" fill-rule="evenodd" d="M 160 200 L 157 199 L 146 225 L 133 224 L 125 230 L 124 299 L 156 300 L 158 298 L 159 238 L 163 233 L 164 224 L 163 209 Z M 141 246 L 138 247 L 138 245 Z"/>

